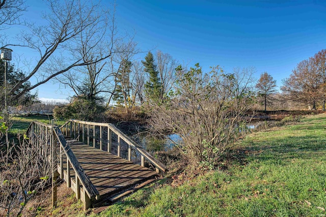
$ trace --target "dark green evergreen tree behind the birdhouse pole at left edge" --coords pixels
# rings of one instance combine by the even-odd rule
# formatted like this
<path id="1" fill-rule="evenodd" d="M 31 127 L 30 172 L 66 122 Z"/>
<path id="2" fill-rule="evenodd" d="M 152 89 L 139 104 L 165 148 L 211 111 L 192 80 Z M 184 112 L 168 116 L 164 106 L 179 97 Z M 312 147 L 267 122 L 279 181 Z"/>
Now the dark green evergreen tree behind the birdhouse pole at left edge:
<path id="1" fill-rule="evenodd" d="M 25 74 L 21 70 L 15 69 L 15 66 L 13 64 L 10 64 L 8 62 L 8 71 L 7 71 L 7 83 L 8 83 L 8 89 L 10 90 L 13 86 L 15 86 L 19 81 L 25 78 Z M 31 92 L 27 91 L 24 95 L 19 97 L 16 100 L 10 100 L 10 98 L 13 98 L 14 96 L 18 95 L 19 92 L 23 91 L 24 89 L 27 89 L 31 87 L 31 82 L 26 81 L 25 83 L 21 84 L 19 88 L 14 92 L 13 95 L 8 96 L 8 105 L 9 106 L 17 106 L 17 105 L 30 105 L 33 102 L 36 101 L 37 93 L 31 94 Z M 4 107 L 5 105 L 5 61 L 0 60 L 0 107 Z"/>

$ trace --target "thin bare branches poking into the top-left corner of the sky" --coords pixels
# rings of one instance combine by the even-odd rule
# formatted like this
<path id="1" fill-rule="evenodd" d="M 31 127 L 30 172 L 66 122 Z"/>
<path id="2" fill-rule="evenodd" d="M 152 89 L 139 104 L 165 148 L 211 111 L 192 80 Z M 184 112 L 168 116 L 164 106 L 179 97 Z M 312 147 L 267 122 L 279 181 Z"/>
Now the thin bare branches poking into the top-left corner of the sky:
<path id="1" fill-rule="evenodd" d="M 0 0 L 0 29 L 5 25 L 19 24 L 19 17 L 26 10 L 23 0 Z"/>

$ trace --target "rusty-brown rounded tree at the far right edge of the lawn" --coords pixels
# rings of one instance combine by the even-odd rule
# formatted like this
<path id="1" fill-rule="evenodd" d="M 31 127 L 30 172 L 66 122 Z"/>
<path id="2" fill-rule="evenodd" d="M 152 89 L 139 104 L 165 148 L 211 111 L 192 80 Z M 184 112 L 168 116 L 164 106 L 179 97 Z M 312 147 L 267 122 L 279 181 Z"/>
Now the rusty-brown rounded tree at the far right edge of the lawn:
<path id="1" fill-rule="evenodd" d="M 310 104 L 316 110 L 317 102 L 323 99 L 321 84 L 322 78 L 314 59 L 309 58 L 297 64 L 290 77 L 283 81 L 281 90 L 291 100 Z"/>

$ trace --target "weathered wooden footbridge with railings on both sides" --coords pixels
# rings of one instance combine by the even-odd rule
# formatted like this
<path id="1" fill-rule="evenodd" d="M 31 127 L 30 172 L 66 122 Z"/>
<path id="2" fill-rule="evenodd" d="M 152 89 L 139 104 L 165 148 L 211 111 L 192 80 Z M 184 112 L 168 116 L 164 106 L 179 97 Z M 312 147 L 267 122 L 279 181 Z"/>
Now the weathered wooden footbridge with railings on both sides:
<path id="1" fill-rule="evenodd" d="M 52 164 L 53 206 L 59 176 L 88 209 L 141 188 L 166 171 L 111 123 L 71 119 L 58 127 L 33 121 L 26 135 Z"/>

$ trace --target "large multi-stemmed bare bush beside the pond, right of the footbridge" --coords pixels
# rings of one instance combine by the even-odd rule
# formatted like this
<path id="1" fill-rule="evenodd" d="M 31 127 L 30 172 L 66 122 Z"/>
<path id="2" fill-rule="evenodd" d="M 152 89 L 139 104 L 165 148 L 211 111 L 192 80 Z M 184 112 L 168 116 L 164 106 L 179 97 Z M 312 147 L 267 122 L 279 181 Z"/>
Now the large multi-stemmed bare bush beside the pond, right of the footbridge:
<path id="1" fill-rule="evenodd" d="M 251 69 L 224 74 L 215 67 L 204 74 L 198 64 L 187 72 L 178 67 L 171 100 L 152 110 L 150 124 L 162 134 L 178 134 L 189 161 L 214 167 L 243 129 L 253 103 L 252 75 Z"/>

